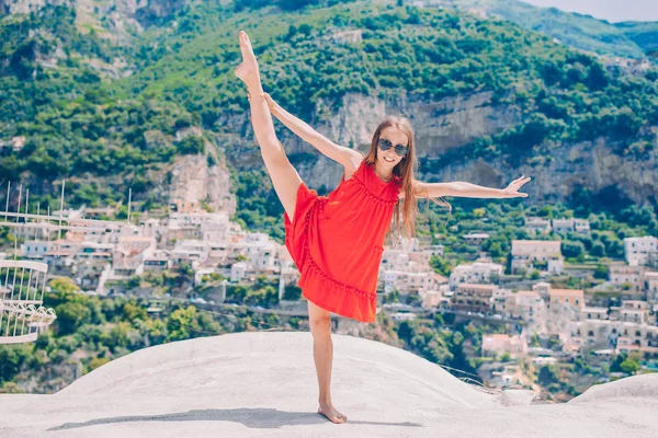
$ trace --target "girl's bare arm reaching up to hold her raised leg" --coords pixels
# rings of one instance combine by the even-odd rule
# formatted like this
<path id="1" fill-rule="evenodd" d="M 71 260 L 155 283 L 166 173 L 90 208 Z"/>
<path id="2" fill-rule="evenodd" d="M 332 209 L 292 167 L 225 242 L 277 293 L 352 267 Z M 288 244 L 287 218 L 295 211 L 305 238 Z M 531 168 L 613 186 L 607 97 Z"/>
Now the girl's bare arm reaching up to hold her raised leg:
<path id="1" fill-rule="evenodd" d="M 265 97 L 272 115 L 279 118 L 281 123 L 287 126 L 304 141 L 310 143 L 330 159 L 341 163 L 345 169 L 355 169 L 359 166 L 359 164 L 361 164 L 361 160 L 363 160 L 363 155 L 361 153 L 329 140 L 327 137 L 311 128 L 304 120 L 300 120 L 287 111 L 283 110 L 276 102 L 274 102 L 270 94 L 262 93 L 262 96 Z"/>

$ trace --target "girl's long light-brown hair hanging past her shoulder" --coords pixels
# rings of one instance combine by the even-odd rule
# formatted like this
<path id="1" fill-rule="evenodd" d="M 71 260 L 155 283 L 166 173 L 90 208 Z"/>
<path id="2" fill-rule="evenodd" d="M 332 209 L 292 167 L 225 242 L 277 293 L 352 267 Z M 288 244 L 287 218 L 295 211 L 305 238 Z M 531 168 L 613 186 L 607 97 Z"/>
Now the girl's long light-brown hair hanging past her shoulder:
<path id="1" fill-rule="evenodd" d="M 418 180 L 416 180 L 416 177 L 413 176 L 413 172 L 418 170 L 418 160 L 416 158 L 416 147 L 413 143 L 413 129 L 411 128 L 411 123 L 408 118 L 400 116 L 388 116 L 384 119 L 384 122 L 379 124 L 379 126 L 377 126 L 377 129 L 375 129 L 375 134 L 373 135 L 373 140 L 371 142 L 371 150 L 367 153 L 367 155 L 365 155 L 365 162 L 367 164 L 374 165 L 374 163 L 377 161 L 377 143 L 379 141 L 379 136 L 382 135 L 382 131 L 384 129 L 390 126 L 398 128 L 402 132 L 405 132 L 409 141 L 409 152 L 402 158 L 402 160 L 399 163 L 397 163 L 395 168 L 393 168 L 394 177 L 400 177 L 400 186 L 405 193 L 405 198 L 402 200 L 401 206 L 402 220 L 400 221 L 400 203 L 397 203 L 394 209 L 394 220 L 392 227 L 388 229 L 386 238 L 392 237 L 392 233 L 395 230 L 397 231 L 397 240 L 400 238 L 402 230 L 408 238 L 416 237 L 416 217 L 418 216 L 417 197 L 428 198 L 428 207 L 430 199 L 434 204 L 447 207 L 451 210 L 452 207 L 443 198 L 439 198 L 439 200 L 435 200 L 433 198 L 427 197 L 427 192 L 423 193 L 423 191 L 421 191 L 416 184 Z"/>

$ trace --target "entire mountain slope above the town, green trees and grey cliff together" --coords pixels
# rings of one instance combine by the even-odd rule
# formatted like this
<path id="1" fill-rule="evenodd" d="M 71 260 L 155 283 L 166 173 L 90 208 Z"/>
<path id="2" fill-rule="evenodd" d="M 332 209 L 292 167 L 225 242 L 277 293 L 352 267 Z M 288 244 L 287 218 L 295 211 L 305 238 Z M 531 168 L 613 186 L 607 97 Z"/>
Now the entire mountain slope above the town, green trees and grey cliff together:
<path id="1" fill-rule="evenodd" d="M 258 181 L 256 186 L 266 191 L 246 92 L 232 73 L 239 28 L 254 42 L 265 89 L 336 141 L 364 148 L 385 113 L 415 119 L 421 177 L 452 177 L 451 169 L 485 160 L 497 169 L 479 172 L 474 182 L 500 184 L 520 165 L 548 172 L 548 181 L 552 171 L 542 163 L 592 141 L 622 163 L 647 163 L 651 174 L 656 71 L 624 76 L 510 23 L 396 3 L 296 11 L 194 3 L 173 11 L 175 20 L 136 34 L 128 47 L 112 38 L 87 38 L 75 26 L 78 12 L 71 9 L 50 19 L 42 11 L 41 22 L 23 18 L 29 28 L 61 33 L 42 50 L 63 53 L 56 64 L 44 64 L 41 49 L 23 49 L 21 26 L 27 24 L 12 25 L 18 15 L 5 16 L 0 28 L 18 43 L 2 53 L 0 141 L 9 145 L 23 136 L 25 146 L 2 149 L 1 182 L 32 182 L 41 188 L 31 197 L 54 199 L 43 182 L 75 175 L 82 186 L 69 199 L 88 205 L 116 201 L 129 184 L 133 199 L 148 208 L 167 204 L 154 187 L 168 181 L 175 157 L 212 148 L 239 170 L 236 183 L 251 187 Z M 55 16 L 66 16 L 68 25 L 57 26 Z M 117 57 L 134 70 L 131 74 L 104 74 L 89 61 L 110 64 Z M 182 136 L 190 127 L 200 135 Z M 305 181 L 318 187 L 336 183 L 340 171 L 316 161 L 309 146 L 286 130 L 281 136 Z M 208 165 L 213 161 L 209 157 Z M 252 171 L 258 175 L 248 176 Z M 653 180 L 609 178 L 605 172 L 603 178 L 583 176 L 560 189 L 537 185 L 532 200 L 565 200 L 575 186 L 597 192 L 602 181 L 619 180 L 626 198 L 650 201 L 658 187 Z M 239 204 L 247 224 L 276 220 L 281 211 L 263 204 L 272 203 L 259 197 Z"/>

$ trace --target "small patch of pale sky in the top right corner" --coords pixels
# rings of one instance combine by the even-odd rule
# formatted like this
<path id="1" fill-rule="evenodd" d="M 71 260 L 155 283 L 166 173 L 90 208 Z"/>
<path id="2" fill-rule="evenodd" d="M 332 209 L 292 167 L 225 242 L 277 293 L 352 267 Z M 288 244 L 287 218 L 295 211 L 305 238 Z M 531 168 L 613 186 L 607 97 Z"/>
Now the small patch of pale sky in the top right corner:
<path id="1" fill-rule="evenodd" d="M 608 20 L 658 21 L 658 0 L 521 0 L 537 7 L 554 7 Z"/>

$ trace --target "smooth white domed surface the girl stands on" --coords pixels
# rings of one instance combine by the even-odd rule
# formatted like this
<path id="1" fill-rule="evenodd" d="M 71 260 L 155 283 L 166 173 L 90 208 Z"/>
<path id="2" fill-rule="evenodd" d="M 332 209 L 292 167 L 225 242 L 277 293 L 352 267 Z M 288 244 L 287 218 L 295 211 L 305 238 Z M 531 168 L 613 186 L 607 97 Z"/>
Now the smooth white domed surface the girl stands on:
<path id="1" fill-rule="evenodd" d="M 567 404 L 504 407 L 402 349 L 340 335 L 333 344 L 342 425 L 316 412 L 310 334 L 256 332 L 139 350 L 54 395 L 0 395 L 0 437 L 658 436 L 658 374 Z"/>

